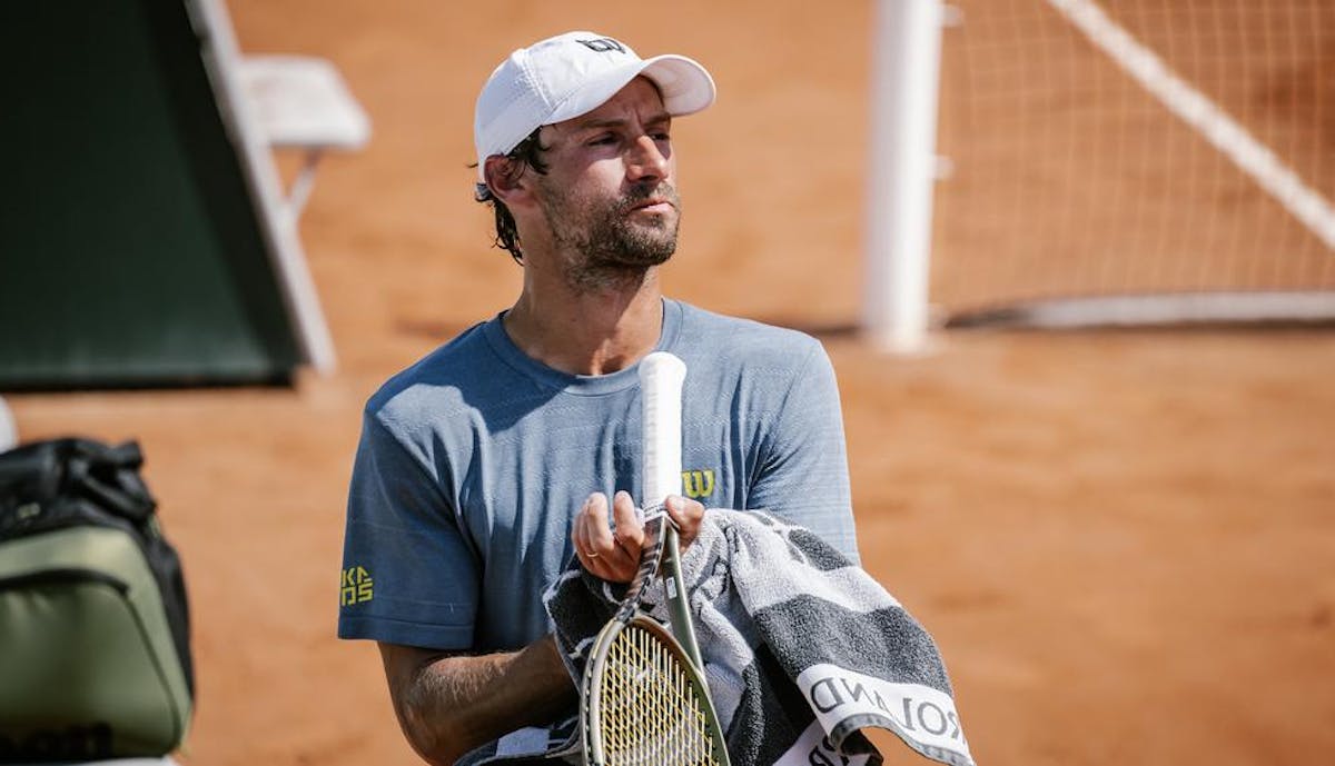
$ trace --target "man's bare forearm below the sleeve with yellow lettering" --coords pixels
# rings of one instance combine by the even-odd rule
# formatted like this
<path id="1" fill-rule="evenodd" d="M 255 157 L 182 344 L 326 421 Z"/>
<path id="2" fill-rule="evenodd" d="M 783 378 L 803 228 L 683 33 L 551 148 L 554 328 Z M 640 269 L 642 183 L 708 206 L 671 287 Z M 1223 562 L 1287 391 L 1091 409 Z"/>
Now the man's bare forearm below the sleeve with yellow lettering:
<path id="1" fill-rule="evenodd" d="M 380 657 L 405 737 L 438 766 L 515 729 L 549 723 L 575 702 L 551 637 L 481 657 L 382 643 Z"/>

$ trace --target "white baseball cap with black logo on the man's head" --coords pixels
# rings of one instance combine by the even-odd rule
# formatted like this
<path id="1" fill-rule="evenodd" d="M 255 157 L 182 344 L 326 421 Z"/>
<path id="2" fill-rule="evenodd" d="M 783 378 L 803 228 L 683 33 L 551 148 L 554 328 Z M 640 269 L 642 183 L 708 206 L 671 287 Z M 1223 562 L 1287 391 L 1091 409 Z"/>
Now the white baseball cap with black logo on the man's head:
<path id="1" fill-rule="evenodd" d="M 478 95 L 478 177 L 485 180 L 487 157 L 509 153 L 542 125 L 597 109 L 639 75 L 658 87 L 673 116 L 714 103 L 714 79 L 694 60 L 641 59 L 630 45 L 595 32 L 566 32 L 510 53 Z"/>

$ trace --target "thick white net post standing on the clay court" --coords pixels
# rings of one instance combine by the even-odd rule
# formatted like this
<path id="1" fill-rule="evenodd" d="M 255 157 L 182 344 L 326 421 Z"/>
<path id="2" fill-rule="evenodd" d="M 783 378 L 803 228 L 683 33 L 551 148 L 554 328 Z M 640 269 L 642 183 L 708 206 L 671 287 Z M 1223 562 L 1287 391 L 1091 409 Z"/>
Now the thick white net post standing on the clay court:
<path id="1" fill-rule="evenodd" d="M 872 40 L 864 334 L 921 351 L 928 331 L 940 0 L 878 0 Z"/>

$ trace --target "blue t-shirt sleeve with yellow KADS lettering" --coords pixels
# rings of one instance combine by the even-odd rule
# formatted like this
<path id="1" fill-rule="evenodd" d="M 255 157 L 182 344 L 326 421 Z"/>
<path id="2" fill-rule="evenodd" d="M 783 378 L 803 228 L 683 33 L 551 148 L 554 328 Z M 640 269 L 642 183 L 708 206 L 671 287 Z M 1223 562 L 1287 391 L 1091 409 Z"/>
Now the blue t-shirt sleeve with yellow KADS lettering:
<path id="1" fill-rule="evenodd" d="M 435 471 L 367 411 L 348 488 L 339 638 L 442 650 L 473 643 L 477 556 Z"/>

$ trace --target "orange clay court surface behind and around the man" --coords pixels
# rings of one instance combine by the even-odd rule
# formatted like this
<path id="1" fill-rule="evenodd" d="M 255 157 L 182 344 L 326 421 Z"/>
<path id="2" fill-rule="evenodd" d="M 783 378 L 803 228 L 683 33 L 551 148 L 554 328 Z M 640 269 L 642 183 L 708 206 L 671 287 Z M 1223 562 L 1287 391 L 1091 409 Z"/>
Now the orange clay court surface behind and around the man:
<path id="1" fill-rule="evenodd" d="M 144 447 L 194 609 L 184 765 L 419 762 L 374 645 L 334 638 L 360 407 L 518 294 L 470 198 L 473 101 L 511 48 L 571 28 L 717 79 L 717 105 L 674 125 L 685 216 L 666 290 L 825 340 L 865 566 L 937 639 L 980 765 L 1335 753 L 1335 334 L 981 330 L 877 352 L 849 331 L 872 3 L 230 8 L 244 52 L 330 59 L 374 124 L 366 151 L 322 164 L 300 223 L 338 371 L 290 390 L 7 396 L 25 439 Z M 937 223 L 956 250 L 968 199 Z M 1211 215 L 1196 220 L 1227 220 Z M 925 762 L 878 741 L 889 762 Z"/>

